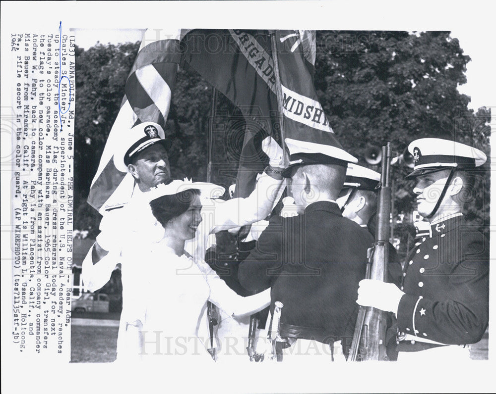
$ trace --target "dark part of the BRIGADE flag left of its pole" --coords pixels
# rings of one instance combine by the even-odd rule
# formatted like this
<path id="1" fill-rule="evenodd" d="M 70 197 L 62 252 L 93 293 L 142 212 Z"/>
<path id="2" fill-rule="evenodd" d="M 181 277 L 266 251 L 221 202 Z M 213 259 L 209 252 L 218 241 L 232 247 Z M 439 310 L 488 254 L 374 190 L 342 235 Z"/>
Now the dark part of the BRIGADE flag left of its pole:
<path id="1" fill-rule="evenodd" d="M 259 68 L 248 62 L 249 54 L 240 49 L 240 40 L 234 32 L 241 33 L 238 30 L 191 30 L 181 43 L 182 65 L 196 71 L 230 99 L 245 118 L 234 197 L 247 197 L 254 188 L 256 174 L 263 171 L 266 164 L 261 163 L 263 154 L 260 154 L 259 141 L 270 133 L 280 142 L 276 130 L 279 120 L 276 97 L 269 93 L 265 82 L 273 74 L 267 31 L 247 31 L 253 38 L 251 53 L 260 54 L 256 59 Z"/>

